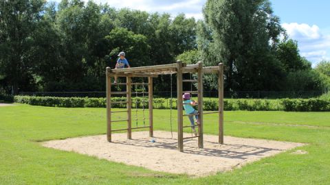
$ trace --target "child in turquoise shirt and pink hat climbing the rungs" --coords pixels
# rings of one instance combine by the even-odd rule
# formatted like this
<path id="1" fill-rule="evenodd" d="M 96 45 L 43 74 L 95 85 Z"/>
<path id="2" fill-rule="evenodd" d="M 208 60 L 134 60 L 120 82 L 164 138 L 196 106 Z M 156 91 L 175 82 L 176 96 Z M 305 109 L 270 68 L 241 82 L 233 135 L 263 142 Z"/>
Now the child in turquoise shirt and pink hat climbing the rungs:
<path id="1" fill-rule="evenodd" d="M 195 108 L 193 108 L 193 106 L 196 106 L 196 101 L 192 101 L 190 99 L 190 94 L 189 93 L 184 93 L 184 95 L 182 95 L 182 98 L 184 99 L 184 110 L 186 110 L 186 114 L 189 115 L 188 119 L 190 121 L 190 124 L 192 125 L 192 131 L 194 132 L 195 136 L 197 136 L 197 132 L 195 130 L 195 121 L 194 121 L 194 115 L 195 115 L 195 119 L 196 119 L 196 123 L 197 125 L 199 124 L 198 121 L 198 111 L 195 110 Z"/>

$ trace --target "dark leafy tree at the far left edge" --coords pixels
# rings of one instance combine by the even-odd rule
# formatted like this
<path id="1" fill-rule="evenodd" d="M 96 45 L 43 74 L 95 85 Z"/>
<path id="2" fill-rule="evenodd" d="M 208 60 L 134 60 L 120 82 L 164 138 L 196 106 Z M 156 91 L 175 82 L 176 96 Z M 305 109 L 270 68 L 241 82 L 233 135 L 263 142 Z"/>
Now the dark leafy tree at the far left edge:
<path id="1" fill-rule="evenodd" d="M 32 73 L 34 58 L 30 49 L 34 46 L 32 33 L 39 26 L 45 1 L 0 1 L 0 75 L 12 86 L 34 90 Z"/>

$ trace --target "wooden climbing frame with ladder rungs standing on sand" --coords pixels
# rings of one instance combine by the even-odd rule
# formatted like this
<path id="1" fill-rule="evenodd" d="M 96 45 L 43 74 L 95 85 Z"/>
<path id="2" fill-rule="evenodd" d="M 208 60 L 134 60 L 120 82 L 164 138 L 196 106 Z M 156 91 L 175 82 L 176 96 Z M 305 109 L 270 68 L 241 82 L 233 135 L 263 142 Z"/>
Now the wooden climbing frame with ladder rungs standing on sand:
<path id="1" fill-rule="evenodd" d="M 177 74 L 177 143 L 179 151 L 184 151 L 184 139 L 188 138 L 198 138 L 198 147 L 203 148 L 203 114 L 218 114 L 219 119 L 219 143 L 223 144 L 223 64 L 220 63 L 219 66 L 207 66 L 203 67 L 202 62 L 197 62 L 197 64 L 187 65 L 181 61 L 177 61 L 174 64 L 164 64 L 157 66 L 142 66 L 142 67 L 132 67 L 126 69 L 111 69 L 107 67 L 107 140 L 111 142 L 111 134 L 116 131 L 127 131 L 127 138 L 132 138 L 132 130 L 149 128 L 149 136 L 153 137 L 153 77 L 158 75 L 170 75 Z M 197 73 L 196 79 L 183 79 L 184 73 Z M 203 112 L 203 74 L 207 73 L 217 73 L 219 81 L 219 110 L 214 112 Z M 111 77 L 126 77 L 126 83 L 118 83 L 117 85 L 126 85 L 126 92 L 111 92 Z M 132 84 L 146 84 L 146 83 L 132 83 L 132 77 L 148 77 L 148 125 L 143 127 L 132 127 L 131 119 L 131 108 L 132 108 L 132 97 L 131 88 Z M 196 91 L 184 91 L 183 82 L 197 83 Z M 197 136 L 192 136 L 184 138 L 184 110 L 183 110 L 183 99 L 182 95 L 184 93 L 193 93 L 198 96 L 198 134 Z M 113 101 L 111 102 L 111 95 L 123 94 L 126 95 L 126 101 Z M 126 110 L 111 111 L 111 105 L 114 103 L 126 103 Z M 111 115 L 117 112 L 127 112 L 127 119 L 124 120 L 111 120 Z M 119 121 L 127 121 L 127 127 L 120 130 L 111 130 L 111 124 Z"/>

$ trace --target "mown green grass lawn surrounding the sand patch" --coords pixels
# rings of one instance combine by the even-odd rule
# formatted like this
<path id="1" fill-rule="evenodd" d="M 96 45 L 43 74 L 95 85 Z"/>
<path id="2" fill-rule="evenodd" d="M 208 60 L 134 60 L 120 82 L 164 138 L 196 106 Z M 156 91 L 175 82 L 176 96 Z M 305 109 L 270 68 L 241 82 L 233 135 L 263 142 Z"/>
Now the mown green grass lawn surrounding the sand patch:
<path id="1" fill-rule="evenodd" d="M 0 184 L 330 184 L 329 112 L 225 112 L 225 135 L 310 143 L 299 148 L 308 153 L 287 151 L 201 178 L 98 160 L 37 143 L 105 134 L 105 112 L 104 108 L 0 107 Z M 155 130 L 170 130 L 169 115 L 170 110 L 154 110 Z M 204 125 L 206 134 L 217 134 L 216 115 L 205 115 Z"/>

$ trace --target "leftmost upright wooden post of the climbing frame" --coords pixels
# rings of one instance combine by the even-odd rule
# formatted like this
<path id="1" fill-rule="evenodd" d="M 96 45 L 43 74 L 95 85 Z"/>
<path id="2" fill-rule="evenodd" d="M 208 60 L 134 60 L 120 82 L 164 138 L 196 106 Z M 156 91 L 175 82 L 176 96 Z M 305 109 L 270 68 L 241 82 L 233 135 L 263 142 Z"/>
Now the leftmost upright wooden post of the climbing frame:
<path id="1" fill-rule="evenodd" d="M 107 140 L 111 142 L 111 68 L 106 69 L 106 85 L 107 85 Z"/>

